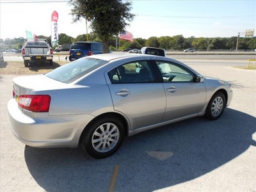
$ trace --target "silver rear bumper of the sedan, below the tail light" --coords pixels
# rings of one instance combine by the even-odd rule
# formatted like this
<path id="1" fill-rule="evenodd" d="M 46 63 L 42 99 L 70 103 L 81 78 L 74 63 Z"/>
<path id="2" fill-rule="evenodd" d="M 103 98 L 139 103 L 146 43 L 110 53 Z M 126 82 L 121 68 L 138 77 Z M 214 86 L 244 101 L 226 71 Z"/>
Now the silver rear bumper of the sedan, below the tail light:
<path id="1" fill-rule="evenodd" d="M 22 113 L 15 99 L 8 102 L 8 115 L 14 136 L 31 147 L 77 147 L 84 127 L 92 115 L 56 115 Z M 31 115 L 32 114 L 32 115 Z"/>

